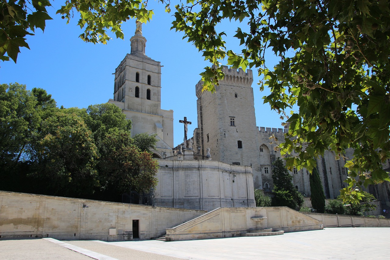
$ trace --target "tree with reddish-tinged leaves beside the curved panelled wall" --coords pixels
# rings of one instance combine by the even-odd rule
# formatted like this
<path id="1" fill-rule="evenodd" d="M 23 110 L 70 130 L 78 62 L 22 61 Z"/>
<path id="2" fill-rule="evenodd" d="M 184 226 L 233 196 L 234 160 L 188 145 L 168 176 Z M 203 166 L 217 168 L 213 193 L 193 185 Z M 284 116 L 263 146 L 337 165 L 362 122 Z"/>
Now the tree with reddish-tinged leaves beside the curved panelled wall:
<path id="1" fill-rule="evenodd" d="M 122 194 L 156 187 L 158 162 L 134 144 L 128 131 L 107 133 L 102 147 L 97 165 L 102 189 Z"/>

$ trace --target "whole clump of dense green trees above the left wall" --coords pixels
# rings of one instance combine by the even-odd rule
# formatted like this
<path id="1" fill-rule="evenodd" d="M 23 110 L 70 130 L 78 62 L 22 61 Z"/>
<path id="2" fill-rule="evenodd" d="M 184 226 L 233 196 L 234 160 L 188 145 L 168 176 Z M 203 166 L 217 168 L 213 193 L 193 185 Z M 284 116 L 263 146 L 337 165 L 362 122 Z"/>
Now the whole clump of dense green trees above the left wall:
<path id="1" fill-rule="evenodd" d="M 156 187 L 154 135 L 131 138 L 131 121 L 109 103 L 57 108 L 44 89 L 0 85 L 0 189 L 114 199 Z"/>

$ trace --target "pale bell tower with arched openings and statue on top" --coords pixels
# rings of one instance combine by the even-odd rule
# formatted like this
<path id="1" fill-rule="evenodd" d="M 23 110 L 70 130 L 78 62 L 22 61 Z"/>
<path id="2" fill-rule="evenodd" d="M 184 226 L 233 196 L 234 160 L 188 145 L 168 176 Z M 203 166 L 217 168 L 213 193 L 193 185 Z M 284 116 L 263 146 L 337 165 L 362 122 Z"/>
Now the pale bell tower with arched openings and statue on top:
<path id="1" fill-rule="evenodd" d="M 117 105 L 131 119 L 131 135 L 157 134 L 156 157 L 165 158 L 173 147 L 173 110 L 161 109 L 161 63 L 145 55 L 146 39 L 142 24 L 136 22 L 131 52 L 115 69 L 114 96 Z"/>

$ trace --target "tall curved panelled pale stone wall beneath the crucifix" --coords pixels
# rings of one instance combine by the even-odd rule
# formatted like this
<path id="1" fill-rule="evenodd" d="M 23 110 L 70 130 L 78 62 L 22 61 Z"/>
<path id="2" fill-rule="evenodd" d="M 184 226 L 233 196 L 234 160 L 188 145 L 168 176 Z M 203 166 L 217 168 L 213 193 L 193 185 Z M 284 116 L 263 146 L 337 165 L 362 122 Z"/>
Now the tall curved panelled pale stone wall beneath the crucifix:
<path id="1" fill-rule="evenodd" d="M 211 160 L 158 162 L 158 206 L 202 210 L 255 207 L 251 167 Z"/>

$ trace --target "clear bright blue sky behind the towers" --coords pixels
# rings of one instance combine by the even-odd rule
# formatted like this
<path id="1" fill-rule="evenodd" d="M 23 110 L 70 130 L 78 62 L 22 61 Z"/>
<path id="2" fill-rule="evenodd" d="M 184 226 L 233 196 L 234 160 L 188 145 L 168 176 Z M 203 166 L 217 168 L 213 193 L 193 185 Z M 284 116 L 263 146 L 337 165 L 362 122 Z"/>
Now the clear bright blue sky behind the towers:
<path id="1" fill-rule="evenodd" d="M 113 98 L 115 68 L 130 53 L 131 36 L 135 32 L 135 20 L 122 25 L 124 40 L 108 41 L 107 45 L 84 43 L 78 38 L 83 30 L 76 25 L 77 17 L 68 25 L 55 12 L 63 1 L 55 1 L 48 8 L 53 20 L 46 22 L 44 33 L 35 30 L 35 36 L 26 36 L 30 50 L 21 48 L 17 64 L 13 61 L 0 62 L 0 84 L 18 82 L 26 84 L 27 89 L 41 87 L 52 95 L 58 107 L 88 107 L 105 103 Z M 199 73 L 209 66 L 202 53 L 182 39 L 182 33 L 170 30 L 173 21 L 172 12 L 164 12 L 164 5 L 149 1 L 149 8 L 155 15 L 150 23 L 142 25 L 142 34 L 147 39 L 145 53 L 148 57 L 160 61 L 161 65 L 161 109 L 174 110 L 174 144 L 183 142 L 184 116 L 192 124 L 188 126 L 188 137 L 197 127 L 197 107 L 195 84 L 200 80 Z M 227 48 L 240 53 L 243 46 L 234 38 L 237 27 L 245 30 L 246 23 L 230 23 L 228 20 L 217 32 L 225 31 Z M 267 63 L 275 63 L 271 55 Z M 254 69 L 254 76 L 257 71 Z M 263 104 L 259 78 L 254 78 L 255 112 L 257 126 L 282 128 L 279 115 L 271 111 L 268 104 Z"/>

